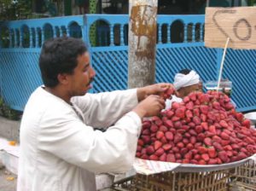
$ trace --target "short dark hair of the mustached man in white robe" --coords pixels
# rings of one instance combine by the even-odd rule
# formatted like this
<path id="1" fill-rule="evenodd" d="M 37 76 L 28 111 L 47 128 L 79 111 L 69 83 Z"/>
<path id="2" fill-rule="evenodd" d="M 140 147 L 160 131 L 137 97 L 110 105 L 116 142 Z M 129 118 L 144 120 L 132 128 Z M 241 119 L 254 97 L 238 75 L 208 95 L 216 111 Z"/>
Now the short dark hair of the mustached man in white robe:
<path id="1" fill-rule="evenodd" d="M 39 67 L 44 85 L 55 87 L 59 84 L 58 74 L 72 74 L 77 67 L 77 58 L 87 51 L 79 38 L 52 38 L 44 42 L 39 57 Z"/>

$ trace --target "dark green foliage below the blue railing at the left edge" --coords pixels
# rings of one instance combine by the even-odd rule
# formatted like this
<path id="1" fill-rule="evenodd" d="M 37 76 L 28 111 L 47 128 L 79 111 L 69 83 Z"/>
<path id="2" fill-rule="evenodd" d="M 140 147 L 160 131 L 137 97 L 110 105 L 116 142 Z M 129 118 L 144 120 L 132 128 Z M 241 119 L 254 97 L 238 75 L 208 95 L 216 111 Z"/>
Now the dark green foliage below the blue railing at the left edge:
<path id="1" fill-rule="evenodd" d="M 21 112 L 11 109 L 4 103 L 3 98 L 0 97 L 0 115 L 7 119 L 20 120 Z"/>

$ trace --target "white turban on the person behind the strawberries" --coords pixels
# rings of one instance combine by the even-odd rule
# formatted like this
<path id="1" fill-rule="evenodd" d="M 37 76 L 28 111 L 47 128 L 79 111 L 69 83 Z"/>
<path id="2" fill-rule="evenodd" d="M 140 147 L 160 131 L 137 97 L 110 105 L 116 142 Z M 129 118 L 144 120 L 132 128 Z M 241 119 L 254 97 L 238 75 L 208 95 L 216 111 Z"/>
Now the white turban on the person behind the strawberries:
<path id="1" fill-rule="evenodd" d="M 174 77 L 173 85 L 176 90 L 179 90 L 180 88 L 199 83 L 199 75 L 194 70 L 192 70 L 187 75 L 183 73 L 177 73 Z"/>

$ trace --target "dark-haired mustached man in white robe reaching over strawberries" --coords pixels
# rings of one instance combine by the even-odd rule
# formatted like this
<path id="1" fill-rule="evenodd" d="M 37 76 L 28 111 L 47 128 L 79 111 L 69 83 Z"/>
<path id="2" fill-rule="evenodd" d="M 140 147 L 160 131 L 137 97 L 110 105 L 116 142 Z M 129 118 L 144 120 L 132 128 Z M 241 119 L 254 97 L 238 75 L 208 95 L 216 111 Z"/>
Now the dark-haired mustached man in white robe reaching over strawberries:
<path id="1" fill-rule="evenodd" d="M 130 170 L 142 119 L 165 107 L 156 95 L 167 84 L 86 94 L 96 73 L 76 38 L 45 42 L 39 67 L 44 86 L 30 96 L 20 125 L 17 190 L 94 191 L 95 173 Z"/>

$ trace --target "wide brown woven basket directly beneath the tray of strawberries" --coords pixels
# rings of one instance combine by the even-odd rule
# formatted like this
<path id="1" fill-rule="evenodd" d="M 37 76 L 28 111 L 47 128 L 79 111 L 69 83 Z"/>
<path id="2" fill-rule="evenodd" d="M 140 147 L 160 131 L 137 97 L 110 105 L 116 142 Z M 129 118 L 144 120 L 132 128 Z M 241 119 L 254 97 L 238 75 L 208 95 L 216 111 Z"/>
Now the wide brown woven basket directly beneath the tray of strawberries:
<path id="1" fill-rule="evenodd" d="M 234 169 L 233 169 L 234 171 Z M 115 182 L 114 190 L 131 191 L 224 191 L 229 190 L 230 170 L 174 172 L 139 175 Z"/>

